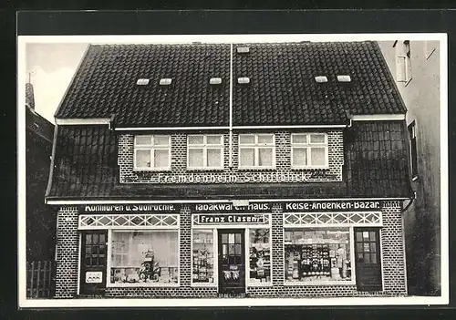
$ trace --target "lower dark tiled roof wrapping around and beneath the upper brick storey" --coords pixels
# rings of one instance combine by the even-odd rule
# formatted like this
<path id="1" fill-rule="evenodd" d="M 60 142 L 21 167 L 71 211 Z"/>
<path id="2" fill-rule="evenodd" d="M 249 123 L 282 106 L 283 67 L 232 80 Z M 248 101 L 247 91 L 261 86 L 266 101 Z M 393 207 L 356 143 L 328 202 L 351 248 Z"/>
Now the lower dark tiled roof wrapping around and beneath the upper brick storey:
<path id="1" fill-rule="evenodd" d="M 343 182 L 281 184 L 120 184 L 117 139 L 106 126 L 59 126 L 48 200 L 309 199 L 409 197 L 403 121 L 354 122 Z M 376 140 L 378 139 L 378 140 Z"/>

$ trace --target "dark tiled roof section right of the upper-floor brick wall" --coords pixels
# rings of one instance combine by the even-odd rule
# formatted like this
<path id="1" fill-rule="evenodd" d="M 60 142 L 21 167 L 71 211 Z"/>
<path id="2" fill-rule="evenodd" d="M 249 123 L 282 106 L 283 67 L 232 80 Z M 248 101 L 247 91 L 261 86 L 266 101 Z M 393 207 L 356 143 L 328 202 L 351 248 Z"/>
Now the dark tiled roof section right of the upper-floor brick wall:
<path id="1" fill-rule="evenodd" d="M 352 194 L 411 196 L 405 121 L 354 122 L 347 133 L 347 185 Z"/>

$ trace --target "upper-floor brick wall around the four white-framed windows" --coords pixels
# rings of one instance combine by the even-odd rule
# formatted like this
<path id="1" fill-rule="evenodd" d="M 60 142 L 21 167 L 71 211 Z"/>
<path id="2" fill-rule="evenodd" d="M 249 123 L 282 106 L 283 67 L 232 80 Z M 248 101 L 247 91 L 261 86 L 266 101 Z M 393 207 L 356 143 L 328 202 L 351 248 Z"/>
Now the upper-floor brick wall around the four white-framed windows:
<path id="1" fill-rule="evenodd" d="M 233 181 L 230 177 L 238 182 L 245 181 L 244 173 L 246 170 L 238 170 L 238 134 L 233 134 L 233 168 L 229 168 L 229 134 L 223 133 L 223 170 L 197 170 L 201 173 L 211 173 L 216 177 L 223 177 L 223 181 Z M 301 173 L 305 172 L 308 181 L 342 181 L 342 166 L 344 164 L 343 150 L 343 133 L 341 130 L 332 130 L 327 132 L 328 138 L 328 159 L 329 169 L 326 170 L 291 170 L 291 132 L 275 131 L 275 170 L 265 170 L 276 172 L 278 174 Z M 136 171 L 133 170 L 133 143 L 132 134 L 123 134 L 119 136 L 119 168 L 120 183 L 157 183 L 159 177 L 158 171 Z M 264 170 L 261 170 L 264 171 Z M 249 170 L 251 179 L 256 179 L 261 175 L 260 170 Z M 195 170 L 187 170 L 187 135 L 184 133 L 171 134 L 171 171 L 162 171 L 162 174 L 169 176 L 186 176 L 189 177 Z M 217 181 L 214 181 L 215 183 Z M 271 181 L 277 182 L 275 177 Z"/>

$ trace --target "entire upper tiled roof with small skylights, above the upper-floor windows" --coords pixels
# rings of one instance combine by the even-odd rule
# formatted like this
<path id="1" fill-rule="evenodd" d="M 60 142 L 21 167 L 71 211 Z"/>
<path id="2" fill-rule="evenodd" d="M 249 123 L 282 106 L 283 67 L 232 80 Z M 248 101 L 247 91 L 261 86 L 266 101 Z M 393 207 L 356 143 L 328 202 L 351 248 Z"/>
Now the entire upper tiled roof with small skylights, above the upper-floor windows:
<path id="1" fill-rule="evenodd" d="M 230 56 L 227 44 L 89 46 L 56 116 L 115 115 L 118 127 L 228 126 Z M 171 85 L 159 86 L 165 77 Z M 222 84 L 210 85 L 211 77 Z M 150 83 L 137 86 L 139 78 Z M 375 42 L 233 46 L 234 126 L 342 124 L 347 114 L 405 111 Z"/>

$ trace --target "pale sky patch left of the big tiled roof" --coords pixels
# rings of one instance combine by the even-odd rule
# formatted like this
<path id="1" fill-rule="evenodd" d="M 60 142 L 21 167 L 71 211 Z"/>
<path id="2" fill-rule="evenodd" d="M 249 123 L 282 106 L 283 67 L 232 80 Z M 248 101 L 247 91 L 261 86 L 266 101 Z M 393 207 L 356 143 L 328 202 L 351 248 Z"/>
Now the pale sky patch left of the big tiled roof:
<path id="1" fill-rule="evenodd" d="M 34 86 L 35 110 L 55 123 L 54 113 L 88 44 L 27 44 L 26 74 Z"/>

